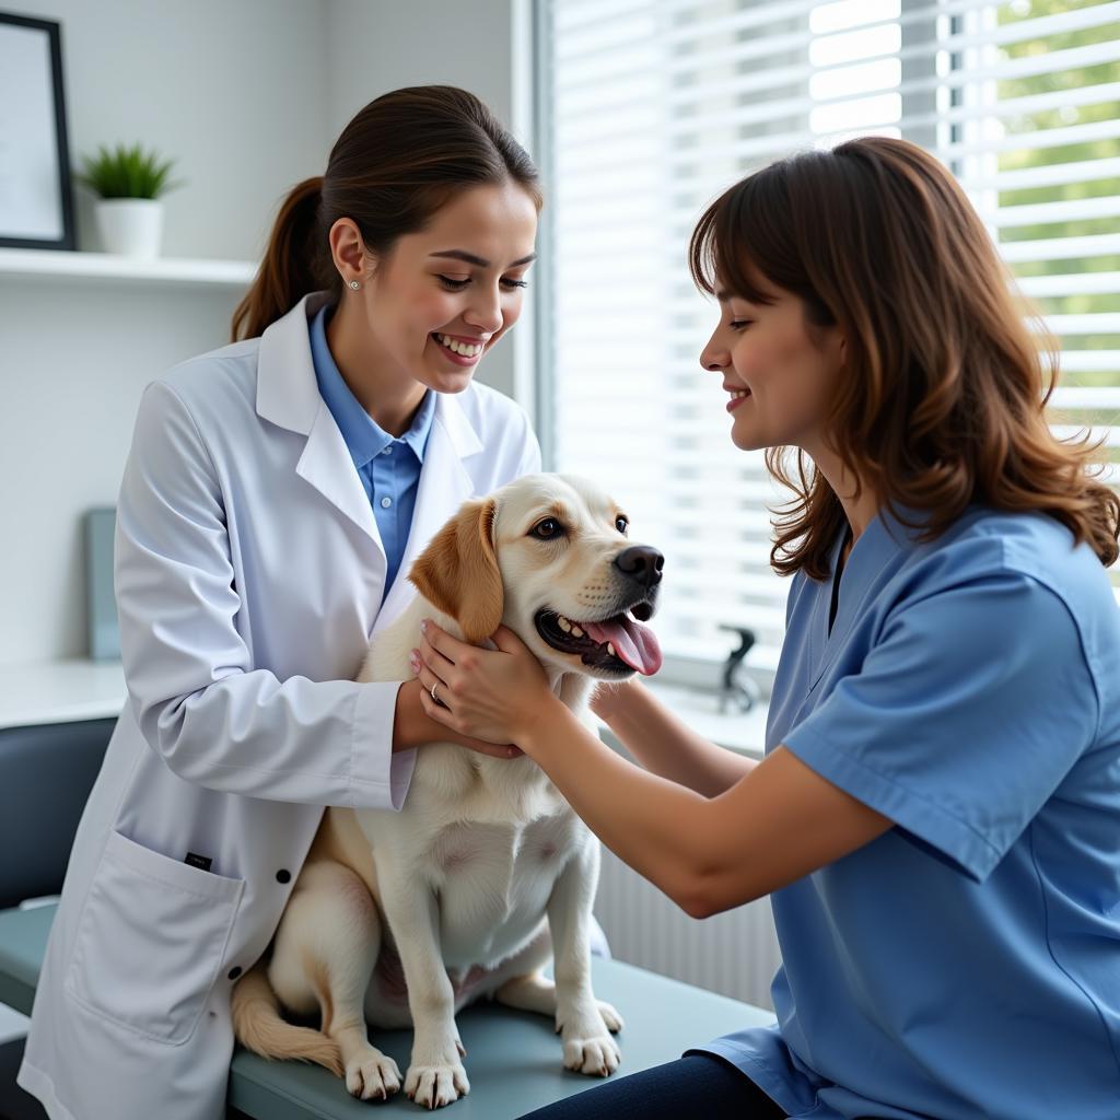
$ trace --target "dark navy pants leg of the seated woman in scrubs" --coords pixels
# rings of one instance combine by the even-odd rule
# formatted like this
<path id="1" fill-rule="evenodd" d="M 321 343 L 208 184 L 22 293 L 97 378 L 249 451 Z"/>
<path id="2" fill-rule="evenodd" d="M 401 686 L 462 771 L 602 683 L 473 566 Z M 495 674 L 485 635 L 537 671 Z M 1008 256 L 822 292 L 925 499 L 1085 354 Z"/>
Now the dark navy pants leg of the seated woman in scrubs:
<path id="1" fill-rule="evenodd" d="M 785 1120 L 745 1073 L 715 1054 L 690 1054 L 547 1104 L 521 1120 Z"/>

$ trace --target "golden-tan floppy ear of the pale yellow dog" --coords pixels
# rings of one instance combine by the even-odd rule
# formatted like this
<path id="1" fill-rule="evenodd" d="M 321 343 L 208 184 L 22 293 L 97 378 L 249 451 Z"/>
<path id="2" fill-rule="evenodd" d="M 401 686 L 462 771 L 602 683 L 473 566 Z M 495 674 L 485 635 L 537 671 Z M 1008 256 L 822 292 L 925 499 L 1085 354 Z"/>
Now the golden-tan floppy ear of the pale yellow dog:
<path id="1" fill-rule="evenodd" d="M 495 510 L 494 498 L 464 503 L 409 572 L 420 594 L 450 615 L 473 643 L 489 637 L 502 624 L 505 595 L 494 552 Z"/>

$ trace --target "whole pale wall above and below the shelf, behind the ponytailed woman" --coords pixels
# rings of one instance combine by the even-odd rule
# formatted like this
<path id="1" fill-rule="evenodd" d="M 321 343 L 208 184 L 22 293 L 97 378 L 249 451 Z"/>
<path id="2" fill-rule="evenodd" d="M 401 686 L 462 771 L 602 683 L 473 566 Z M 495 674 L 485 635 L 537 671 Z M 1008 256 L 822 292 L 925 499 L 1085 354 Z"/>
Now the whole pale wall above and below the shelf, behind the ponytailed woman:
<path id="1" fill-rule="evenodd" d="M 324 170 L 377 94 L 459 84 L 508 120 L 512 15 L 525 3 L 18 7 L 63 25 L 73 168 L 100 143 L 156 146 L 187 180 L 167 196 L 165 255 L 259 260 L 287 192 Z M 91 200 L 75 190 L 75 204 L 80 249 L 100 249 Z M 82 512 L 115 501 L 143 385 L 227 342 L 239 295 L 0 274 L 0 664 L 85 654 Z M 483 379 L 512 391 L 513 355 L 504 340 Z"/>

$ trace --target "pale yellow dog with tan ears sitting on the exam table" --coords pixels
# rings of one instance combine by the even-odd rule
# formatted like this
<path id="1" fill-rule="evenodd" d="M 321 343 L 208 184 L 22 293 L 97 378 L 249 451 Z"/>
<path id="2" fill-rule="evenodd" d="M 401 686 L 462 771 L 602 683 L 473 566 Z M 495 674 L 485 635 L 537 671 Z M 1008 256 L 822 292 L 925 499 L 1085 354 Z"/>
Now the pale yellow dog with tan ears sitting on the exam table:
<path id="1" fill-rule="evenodd" d="M 357 679 L 413 676 L 423 617 L 474 643 L 504 623 L 578 712 L 596 681 L 656 672 L 642 623 L 662 557 L 627 530 L 614 500 L 573 476 L 532 475 L 467 502 L 417 559 L 420 594 Z M 622 1019 L 590 982 L 598 874 L 598 841 L 530 758 L 426 746 L 400 812 L 327 810 L 271 959 L 234 989 L 237 1037 L 264 1057 L 325 1065 L 367 1100 L 401 1079 L 366 1023 L 411 1025 L 404 1090 L 437 1108 L 469 1090 L 455 1015 L 486 997 L 554 1017 L 568 1068 L 613 1073 Z M 553 954 L 554 986 L 541 974 Z M 321 1028 L 287 1023 L 281 1004 L 318 1012 Z"/>

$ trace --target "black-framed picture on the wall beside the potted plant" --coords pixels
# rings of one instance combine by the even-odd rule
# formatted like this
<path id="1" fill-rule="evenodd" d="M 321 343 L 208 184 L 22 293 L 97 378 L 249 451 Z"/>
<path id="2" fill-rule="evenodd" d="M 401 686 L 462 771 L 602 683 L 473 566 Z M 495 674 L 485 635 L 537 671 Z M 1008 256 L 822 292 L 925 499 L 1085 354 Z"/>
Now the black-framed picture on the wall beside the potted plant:
<path id="1" fill-rule="evenodd" d="M 2 11 L 0 245 L 74 249 L 60 25 Z"/>

